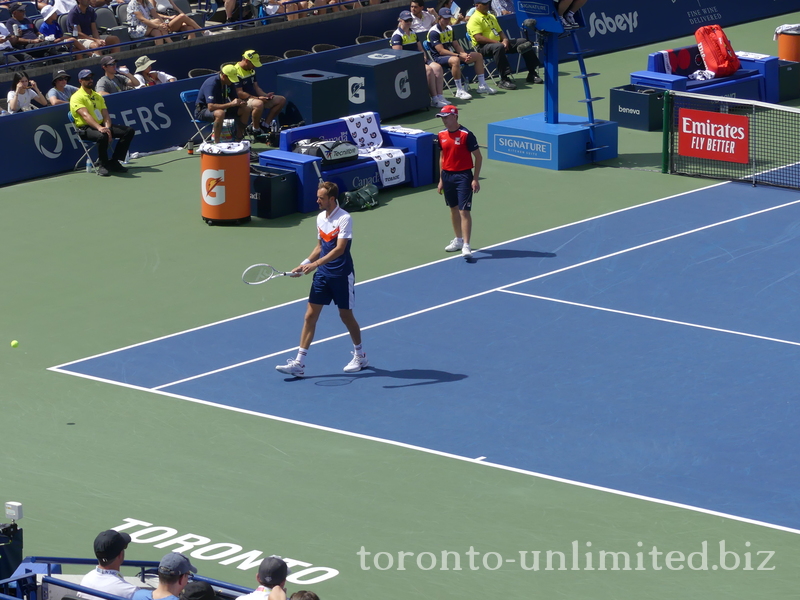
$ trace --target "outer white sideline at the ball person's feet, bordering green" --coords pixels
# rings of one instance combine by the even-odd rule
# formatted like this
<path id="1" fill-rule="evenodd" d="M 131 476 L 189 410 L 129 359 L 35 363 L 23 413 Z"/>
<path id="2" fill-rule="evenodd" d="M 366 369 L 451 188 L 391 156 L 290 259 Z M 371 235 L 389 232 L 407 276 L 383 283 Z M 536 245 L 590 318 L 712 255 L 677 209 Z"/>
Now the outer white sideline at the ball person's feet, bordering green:
<path id="1" fill-rule="evenodd" d="M 657 204 L 659 202 L 665 202 L 666 200 L 672 200 L 673 198 L 680 198 L 681 196 L 687 196 L 687 195 L 690 195 L 690 194 L 695 194 L 697 192 L 710 190 L 712 188 L 719 187 L 719 186 L 722 186 L 722 185 L 729 185 L 731 183 L 736 183 L 736 182 L 723 181 L 721 183 L 714 183 L 712 185 L 708 185 L 706 187 L 698 188 L 696 190 L 689 190 L 688 192 L 681 192 L 680 194 L 673 194 L 672 196 L 665 196 L 664 198 L 658 198 L 656 200 L 651 200 L 650 202 L 645 202 L 643 204 L 637 204 L 636 206 L 629 206 L 627 208 L 621 208 L 619 210 L 613 210 L 611 212 L 604 213 L 602 215 L 597 215 L 596 217 L 589 217 L 588 219 L 582 219 L 580 221 L 575 221 L 573 223 L 567 223 L 566 225 L 559 225 L 557 227 L 551 227 L 550 229 L 545 229 L 544 231 L 538 231 L 536 233 L 530 233 L 528 235 L 523 235 L 523 236 L 520 236 L 520 237 L 517 237 L 517 238 L 506 240 L 504 242 L 499 242 L 499 243 L 493 244 L 491 246 L 485 246 L 485 247 L 481 248 L 481 250 L 489 250 L 491 248 L 497 248 L 498 246 L 505 246 L 506 244 L 513 244 L 514 242 L 518 242 L 520 240 L 525 240 L 525 239 L 536 237 L 536 236 L 539 236 L 539 235 L 544 235 L 546 233 L 550 233 L 550 232 L 553 232 L 553 231 L 558 231 L 559 229 L 566 229 L 567 227 L 572 227 L 573 225 L 582 225 L 584 223 L 589 223 L 591 221 L 596 221 L 598 219 L 604 219 L 604 218 L 610 217 L 612 215 L 624 213 L 624 212 L 627 212 L 627 211 L 630 211 L 630 210 L 634 210 L 634 209 L 637 209 L 637 208 L 642 208 L 644 206 L 649 206 L 651 204 Z M 434 261 L 431 261 L 429 263 L 425 263 L 423 265 L 418 265 L 418 266 L 415 266 L 415 267 L 409 267 L 408 269 L 402 269 L 400 271 L 395 271 L 393 273 L 387 273 L 386 275 L 379 275 L 378 277 L 373 277 L 372 279 L 367 279 L 366 281 L 359 281 L 359 282 L 356 283 L 356 285 L 364 285 L 366 283 L 371 283 L 373 281 L 378 281 L 380 279 L 385 279 L 387 277 L 394 277 L 395 275 L 401 275 L 403 273 L 409 273 L 409 272 L 415 271 L 417 269 L 422 269 L 422 268 L 425 268 L 425 267 L 429 267 L 431 265 L 435 265 L 435 264 L 438 264 L 438 263 L 441 263 L 441 262 L 445 262 L 447 260 L 454 260 L 456 258 L 461 258 L 461 257 L 460 256 L 448 256 L 447 258 L 441 258 L 439 260 L 434 260 Z M 230 317 L 228 319 L 222 319 L 221 321 L 214 321 L 212 323 L 207 323 L 205 325 L 199 325 L 197 327 L 192 327 L 190 329 L 184 329 L 182 331 L 178 331 L 178 332 L 175 332 L 175 333 L 170 333 L 170 334 L 167 334 L 167 335 L 164 335 L 164 336 L 161 336 L 161 337 L 157 337 L 157 338 L 153 338 L 153 339 L 150 339 L 150 340 L 147 340 L 147 341 L 144 341 L 144 342 L 137 342 L 136 344 L 130 344 L 129 346 L 123 346 L 123 347 L 117 348 L 115 350 L 108 350 L 106 352 L 100 352 L 99 354 L 93 354 L 92 356 L 87 356 L 87 357 L 84 357 L 84 358 L 79 358 L 77 360 L 72 360 L 70 362 L 66 362 L 66 363 L 62 363 L 60 365 L 56 365 L 54 367 L 50 367 L 48 370 L 59 372 L 59 373 L 69 373 L 69 371 L 61 371 L 61 369 L 63 367 L 68 367 L 70 365 L 74 365 L 76 363 L 80 363 L 80 362 L 83 362 L 83 361 L 86 361 L 86 360 L 92 360 L 94 358 L 100 358 L 101 356 L 108 356 L 110 354 L 115 354 L 117 352 L 122 352 L 124 350 L 130 350 L 131 348 L 137 348 L 139 346 L 145 346 L 147 344 L 160 342 L 162 340 L 166 340 L 166 339 L 169 339 L 169 338 L 172 338 L 172 337 L 177 337 L 179 335 L 184 335 L 186 333 L 192 333 L 194 331 L 200 331 L 201 329 L 206 329 L 208 327 L 214 327 L 215 325 L 220 325 L 222 323 L 229 323 L 231 321 L 235 321 L 236 319 L 244 319 L 244 318 L 251 317 L 253 315 L 257 315 L 257 314 L 260 314 L 260 313 L 263 313 L 263 312 L 268 312 L 270 310 L 275 310 L 277 308 L 282 308 L 284 306 L 289 306 L 291 304 L 297 304 L 298 302 L 305 302 L 307 300 L 308 300 L 308 297 L 304 296 L 302 298 L 298 298 L 297 300 L 291 300 L 289 302 L 284 302 L 283 304 L 277 304 L 275 306 L 270 306 L 268 308 L 262 308 L 260 310 L 254 310 L 253 312 L 245 313 L 243 315 L 238 315 L 236 317 Z M 261 357 L 261 358 L 264 358 L 264 357 Z M 255 360 L 258 360 L 258 359 L 255 359 Z"/>

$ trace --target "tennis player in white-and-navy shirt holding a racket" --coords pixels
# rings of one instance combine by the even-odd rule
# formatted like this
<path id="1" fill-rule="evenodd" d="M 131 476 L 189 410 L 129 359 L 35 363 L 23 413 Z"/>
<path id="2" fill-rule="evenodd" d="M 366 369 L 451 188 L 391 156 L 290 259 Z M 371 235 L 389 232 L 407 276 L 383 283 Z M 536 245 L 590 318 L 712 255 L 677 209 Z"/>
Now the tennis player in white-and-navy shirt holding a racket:
<path id="1" fill-rule="evenodd" d="M 285 365 L 275 367 L 277 371 L 302 377 L 305 374 L 306 355 L 317 327 L 322 307 L 331 301 L 339 308 L 350 338 L 353 340 L 353 360 L 344 368 L 345 373 L 357 373 L 369 365 L 367 355 L 361 347 L 361 327 L 353 316 L 355 304 L 355 270 L 353 258 L 350 256 L 350 245 L 353 242 L 353 226 L 350 213 L 343 210 L 337 198 L 339 188 L 335 183 L 325 181 L 317 189 L 317 245 L 308 258 L 292 273 L 311 273 L 314 269 L 314 281 L 308 295 L 308 308 L 300 333 L 300 348 L 297 357 L 290 358 Z"/>

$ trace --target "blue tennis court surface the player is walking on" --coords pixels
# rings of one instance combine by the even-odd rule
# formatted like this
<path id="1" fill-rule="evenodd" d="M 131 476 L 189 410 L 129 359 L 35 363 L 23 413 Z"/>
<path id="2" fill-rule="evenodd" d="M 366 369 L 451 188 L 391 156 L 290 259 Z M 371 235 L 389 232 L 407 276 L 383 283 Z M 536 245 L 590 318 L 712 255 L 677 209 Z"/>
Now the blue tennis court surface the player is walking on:
<path id="1" fill-rule="evenodd" d="M 333 308 L 274 371 L 303 279 L 53 370 L 800 529 L 799 233 L 797 192 L 720 184 L 360 284 L 355 375 Z"/>

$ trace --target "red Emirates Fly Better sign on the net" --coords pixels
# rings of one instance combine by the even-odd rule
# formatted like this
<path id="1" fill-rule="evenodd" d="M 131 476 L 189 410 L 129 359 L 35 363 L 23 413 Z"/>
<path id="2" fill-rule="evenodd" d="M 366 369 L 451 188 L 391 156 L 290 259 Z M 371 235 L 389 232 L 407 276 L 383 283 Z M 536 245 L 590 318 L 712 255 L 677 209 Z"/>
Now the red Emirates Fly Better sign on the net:
<path id="1" fill-rule="evenodd" d="M 678 111 L 678 154 L 747 164 L 750 118 L 705 110 Z"/>

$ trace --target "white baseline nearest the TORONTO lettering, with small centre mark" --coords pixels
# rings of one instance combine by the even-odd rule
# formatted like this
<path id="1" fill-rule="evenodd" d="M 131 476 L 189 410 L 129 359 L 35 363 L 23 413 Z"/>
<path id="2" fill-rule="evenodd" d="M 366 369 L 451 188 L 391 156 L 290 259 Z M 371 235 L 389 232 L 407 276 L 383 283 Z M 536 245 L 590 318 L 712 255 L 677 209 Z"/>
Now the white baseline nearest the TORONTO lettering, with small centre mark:
<path id="1" fill-rule="evenodd" d="M 54 368 L 55 367 L 53 367 L 53 369 Z M 405 442 L 397 442 L 395 440 L 387 440 L 385 438 L 374 437 L 374 436 L 366 435 L 366 434 L 363 434 L 363 433 L 355 433 L 355 432 L 352 432 L 352 431 L 346 431 L 344 429 L 335 429 L 333 427 L 326 427 L 324 425 L 315 425 L 314 423 L 307 423 L 305 421 L 296 421 L 294 419 L 287 419 L 286 417 L 279 417 L 279 416 L 276 416 L 276 415 L 268 415 L 268 414 L 265 414 L 265 413 L 262 413 L 262 412 L 256 412 L 256 411 L 247 410 L 247 409 L 244 409 L 244 408 L 237 408 L 237 407 L 228 406 L 228 405 L 225 405 L 225 404 L 217 404 L 215 402 L 209 402 L 207 400 L 199 400 L 198 398 L 192 398 L 190 396 L 181 396 L 180 394 L 173 394 L 171 392 L 156 391 L 156 390 L 152 390 L 150 388 L 140 387 L 140 386 L 131 385 L 131 384 L 127 384 L 127 383 L 120 383 L 118 381 L 114 381 L 114 380 L 111 380 L 111 379 L 103 379 L 101 377 L 94 377 L 92 375 L 83 375 L 81 373 L 73 373 L 73 372 L 70 372 L 70 371 L 64 371 L 64 373 L 67 373 L 69 375 L 74 375 L 75 377 L 81 377 L 83 379 L 89 379 L 89 380 L 92 380 L 92 381 L 99 381 L 99 382 L 102 382 L 102 383 L 111 383 L 111 384 L 119 385 L 119 386 L 126 387 L 126 388 L 133 389 L 133 390 L 140 390 L 140 391 L 143 391 L 143 392 L 151 392 L 151 393 L 154 393 L 154 394 L 159 394 L 161 396 L 166 396 L 168 398 L 175 398 L 175 399 L 178 399 L 178 400 L 185 400 L 187 402 L 194 402 L 195 404 L 203 404 L 205 406 L 213 406 L 215 408 L 221 408 L 223 410 L 229 410 L 229 411 L 232 411 L 232 412 L 245 414 L 245 415 L 250 415 L 250 416 L 253 416 L 253 417 L 260 417 L 262 419 L 271 419 L 273 421 L 280 421 L 282 423 L 287 423 L 287 424 L 290 424 L 290 425 L 299 425 L 300 427 L 306 427 L 308 429 L 316 429 L 318 431 L 324 431 L 324 432 L 327 432 L 327 433 L 335 433 L 335 434 L 339 434 L 339 435 L 345 435 L 345 436 L 348 436 L 348 437 L 357 438 L 357 439 L 361 439 L 361 440 L 367 440 L 367 441 L 370 441 L 370 442 L 379 442 L 379 443 L 382 443 L 382 444 L 387 444 L 389 446 L 396 446 L 398 448 L 405 448 L 405 449 L 408 449 L 408 450 L 415 450 L 415 451 L 418 451 L 418 452 L 424 452 L 425 454 L 432 454 L 432 455 L 441 456 L 441 457 L 444 457 L 444 458 L 451 458 L 451 459 L 459 460 L 459 461 L 462 461 L 462 462 L 472 463 L 474 465 L 484 465 L 484 466 L 491 467 L 491 468 L 494 468 L 494 469 L 500 469 L 501 471 L 508 471 L 510 473 L 518 473 L 518 474 L 521 474 L 521 475 L 528 475 L 528 476 L 531 476 L 531 477 L 536 477 L 538 479 L 545 479 L 547 481 L 553 481 L 553 482 L 556 482 L 556 483 L 563 483 L 563 484 L 566 484 L 566 485 L 571 485 L 571 486 L 584 488 L 584 489 L 588 489 L 588 490 L 594 490 L 594 491 L 598 491 L 598 492 L 605 492 L 607 494 L 612 494 L 612 495 L 615 495 L 615 496 L 623 496 L 625 498 L 631 498 L 631 499 L 634 499 L 634 500 L 642 500 L 642 501 L 645 501 L 645 502 L 652 502 L 653 504 L 660 504 L 662 506 L 670 506 L 670 507 L 673 507 L 673 508 L 680 508 L 682 510 L 689 510 L 689 511 L 692 511 L 692 512 L 701 513 L 701 514 L 705 514 L 705 515 L 711 515 L 711 516 L 715 516 L 715 517 L 722 517 L 724 519 L 730 519 L 732 521 L 737 521 L 737 522 L 740 522 L 740 523 L 747 523 L 749 525 L 758 525 L 760 527 L 766 527 L 768 529 L 774 529 L 774 530 L 777 530 L 777 531 L 784 531 L 784 532 L 787 532 L 787 533 L 800 534 L 800 529 L 794 529 L 792 527 L 786 527 L 784 525 L 776 525 L 775 523 L 767 523 L 766 521 L 758 521 L 756 519 L 749 519 L 747 517 L 740 517 L 738 515 L 732 515 L 732 514 L 728 514 L 728 513 L 723 513 L 723 512 L 716 511 L 716 510 L 710 510 L 708 508 L 702 508 L 702 507 L 699 507 L 699 506 L 692 506 L 690 504 L 681 504 L 680 502 L 673 502 L 672 500 L 663 500 L 661 498 L 653 498 L 651 496 L 644 496 L 642 494 L 635 494 L 633 492 L 626 492 L 626 491 L 623 491 L 623 490 L 615 490 L 613 488 L 607 488 L 607 487 L 603 487 L 603 486 L 599 486 L 599 485 L 594 485 L 592 483 L 584 483 L 582 481 L 575 481 L 573 479 L 565 479 L 563 477 L 556 477 L 555 475 L 547 475 L 546 473 L 538 473 L 536 471 L 529 471 L 527 469 L 520 469 L 518 467 L 509 467 L 508 465 L 501 465 L 499 463 L 486 462 L 486 460 L 484 460 L 486 457 L 484 457 L 484 456 L 480 456 L 478 458 L 469 458 L 467 456 L 460 456 L 458 454 L 451 454 L 449 452 L 442 452 L 441 450 L 432 450 L 430 448 L 424 448 L 422 446 L 414 446 L 413 444 L 407 444 Z"/>

